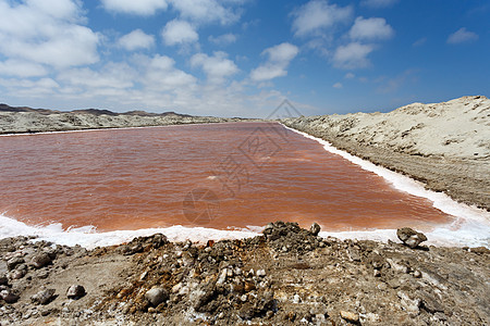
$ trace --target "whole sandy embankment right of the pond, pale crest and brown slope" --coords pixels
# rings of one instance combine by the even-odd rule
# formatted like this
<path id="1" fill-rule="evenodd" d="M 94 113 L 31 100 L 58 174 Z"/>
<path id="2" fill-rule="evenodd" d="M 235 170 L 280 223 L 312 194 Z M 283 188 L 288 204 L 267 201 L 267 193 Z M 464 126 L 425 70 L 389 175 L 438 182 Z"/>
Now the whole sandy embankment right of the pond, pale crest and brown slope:
<path id="1" fill-rule="evenodd" d="M 485 97 L 282 123 L 490 210 L 490 100 Z"/>

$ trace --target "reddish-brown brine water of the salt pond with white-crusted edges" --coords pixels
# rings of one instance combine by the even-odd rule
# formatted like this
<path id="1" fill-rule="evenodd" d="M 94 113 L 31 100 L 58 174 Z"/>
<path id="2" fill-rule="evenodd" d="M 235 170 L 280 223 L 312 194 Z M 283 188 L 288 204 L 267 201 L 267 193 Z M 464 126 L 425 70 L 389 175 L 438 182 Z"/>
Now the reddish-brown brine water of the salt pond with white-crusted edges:
<path id="1" fill-rule="evenodd" d="M 328 230 L 451 222 L 424 198 L 279 124 L 230 123 L 0 137 L 0 213 L 99 230 L 264 226 Z"/>

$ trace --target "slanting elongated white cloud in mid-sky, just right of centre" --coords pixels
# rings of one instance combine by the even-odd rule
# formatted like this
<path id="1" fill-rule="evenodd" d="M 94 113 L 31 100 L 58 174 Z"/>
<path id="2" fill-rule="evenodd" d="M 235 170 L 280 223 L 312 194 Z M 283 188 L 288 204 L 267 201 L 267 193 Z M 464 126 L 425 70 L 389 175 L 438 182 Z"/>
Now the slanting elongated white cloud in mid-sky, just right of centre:
<path id="1" fill-rule="evenodd" d="M 262 55 L 268 55 L 268 61 L 253 70 L 250 78 L 255 82 L 265 82 L 286 76 L 286 68 L 298 52 L 299 49 L 296 46 L 287 42 L 264 50 Z"/>

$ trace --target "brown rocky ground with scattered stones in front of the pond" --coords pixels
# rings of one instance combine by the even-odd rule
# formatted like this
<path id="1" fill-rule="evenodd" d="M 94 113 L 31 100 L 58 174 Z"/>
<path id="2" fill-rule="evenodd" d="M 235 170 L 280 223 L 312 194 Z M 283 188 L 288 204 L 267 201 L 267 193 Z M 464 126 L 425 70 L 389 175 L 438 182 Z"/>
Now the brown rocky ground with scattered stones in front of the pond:
<path id="1" fill-rule="evenodd" d="M 486 248 L 318 237 L 273 223 L 243 239 L 163 235 L 87 251 L 0 240 L 1 325 L 489 325 Z"/>

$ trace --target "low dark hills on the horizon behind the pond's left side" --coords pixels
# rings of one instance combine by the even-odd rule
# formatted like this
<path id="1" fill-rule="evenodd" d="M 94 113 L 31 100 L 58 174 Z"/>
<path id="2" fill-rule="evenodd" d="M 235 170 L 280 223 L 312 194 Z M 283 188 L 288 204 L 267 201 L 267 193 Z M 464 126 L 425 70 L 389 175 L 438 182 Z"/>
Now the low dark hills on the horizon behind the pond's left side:
<path id="1" fill-rule="evenodd" d="M 124 113 L 112 112 L 110 110 L 100 110 L 100 109 L 79 109 L 72 111 L 59 111 L 59 110 L 50 110 L 50 109 L 33 109 L 29 106 L 10 106 L 4 103 L 0 103 L 0 112 L 36 112 L 40 114 L 61 114 L 61 113 L 78 113 L 78 114 L 94 114 L 94 115 L 139 115 L 139 116 L 181 116 L 188 117 L 192 116 L 189 114 L 180 114 L 175 112 L 163 112 L 163 113 L 151 113 L 146 111 L 128 111 Z"/>

